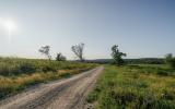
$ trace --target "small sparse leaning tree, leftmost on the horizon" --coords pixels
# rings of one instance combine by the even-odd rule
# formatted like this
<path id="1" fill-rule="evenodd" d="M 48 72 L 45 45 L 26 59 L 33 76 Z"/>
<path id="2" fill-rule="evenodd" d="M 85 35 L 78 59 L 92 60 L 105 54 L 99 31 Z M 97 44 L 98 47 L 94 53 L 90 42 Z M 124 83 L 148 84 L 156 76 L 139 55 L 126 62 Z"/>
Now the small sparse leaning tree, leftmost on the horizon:
<path id="1" fill-rule="evenodd" d="M 45 55 L 49 60 L 51 60 L 50 46 L 40 47 L 40 49 L 39 49 L 38 51 L 39 51 L 42 55 Z"/>

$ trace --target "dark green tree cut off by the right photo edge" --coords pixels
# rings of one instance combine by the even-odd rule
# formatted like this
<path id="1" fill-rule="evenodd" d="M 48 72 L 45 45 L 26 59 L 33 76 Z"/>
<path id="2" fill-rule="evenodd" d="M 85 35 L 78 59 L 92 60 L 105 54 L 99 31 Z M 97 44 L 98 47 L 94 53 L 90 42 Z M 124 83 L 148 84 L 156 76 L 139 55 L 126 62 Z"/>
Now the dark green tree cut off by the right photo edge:
<path id="1" fill-rule="evenodd" d="M 173 57 L 172 53 L 167 53 L 167 55 L 165 56 L 165 62 L 166 62 L 167 64 L 170 64 L 170 66 L 171 66 L 172 69 L 175 69 L 175 58 Z"/>

